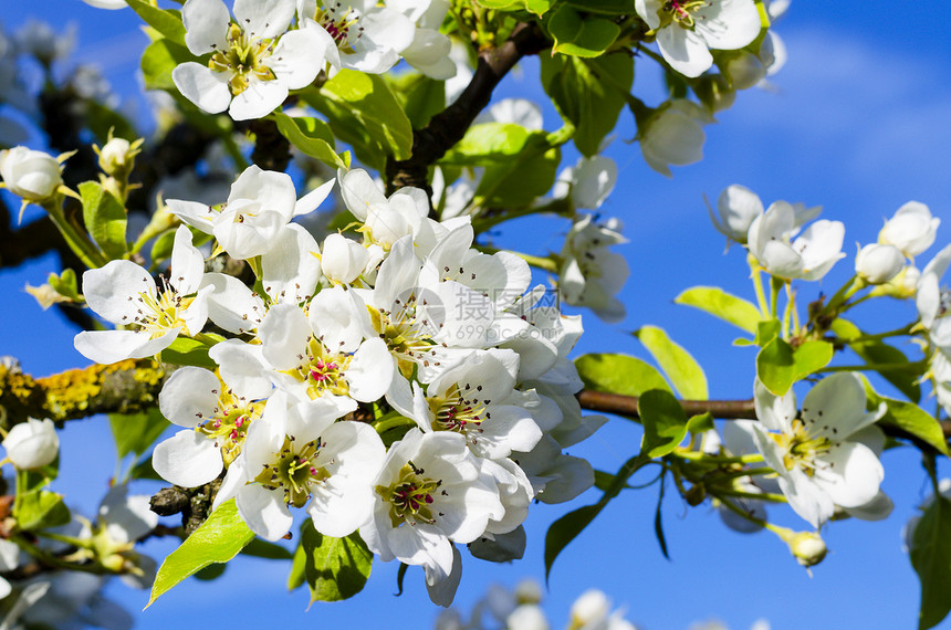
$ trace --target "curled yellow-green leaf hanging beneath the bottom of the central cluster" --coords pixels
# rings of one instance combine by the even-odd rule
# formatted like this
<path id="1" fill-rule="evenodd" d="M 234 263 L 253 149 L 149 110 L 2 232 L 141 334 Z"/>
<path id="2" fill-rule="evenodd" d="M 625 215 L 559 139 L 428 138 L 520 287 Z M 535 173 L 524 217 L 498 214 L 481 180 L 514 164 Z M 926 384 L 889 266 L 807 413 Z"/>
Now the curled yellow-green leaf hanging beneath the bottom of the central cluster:
<path id="1" fill-rule="evenodd" d="M 341 601 L 363 590 L 373 566 L 373 553 L 354 532 L 345 538 L 324 536 L 314 524 L 301 526 L 304 577 L 314 601 Z M 296 555 L 294 558 L 296 565 Z"/>

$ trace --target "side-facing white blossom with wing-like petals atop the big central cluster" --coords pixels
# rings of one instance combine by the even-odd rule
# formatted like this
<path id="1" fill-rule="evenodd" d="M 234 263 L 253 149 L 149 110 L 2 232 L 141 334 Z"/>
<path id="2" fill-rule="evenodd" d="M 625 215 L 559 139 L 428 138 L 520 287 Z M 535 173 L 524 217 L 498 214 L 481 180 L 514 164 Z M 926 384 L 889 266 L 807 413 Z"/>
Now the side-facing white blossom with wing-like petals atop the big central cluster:
<path id="1" fill-rule="evenodd" d="M 331 180 L 299 200 L 291 176 L 252 165 L 231 185 L 220 209 L 178 199 L 169 199 L 168 208 L 185 223 L 213 234 L 232 258 L 250 259 L 271 251 L 288 222 L 312 212 L 333 186 Z"/>

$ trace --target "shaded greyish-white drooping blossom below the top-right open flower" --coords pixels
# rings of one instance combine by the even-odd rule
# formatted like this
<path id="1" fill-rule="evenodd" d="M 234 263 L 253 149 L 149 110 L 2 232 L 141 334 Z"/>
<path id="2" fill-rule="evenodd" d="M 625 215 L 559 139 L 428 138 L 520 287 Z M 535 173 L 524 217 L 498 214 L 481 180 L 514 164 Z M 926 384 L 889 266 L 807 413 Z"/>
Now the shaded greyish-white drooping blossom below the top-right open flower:
<path id="1" fill-rule="evenodd" d="M 669 165 L 686 166 L 703 159 L 703 125 L 713 122 L 706 108 L 686 98 L 661 105 L 644 127 L 638 120 L 644 159 L 657 172 L 672 177 Z"/>

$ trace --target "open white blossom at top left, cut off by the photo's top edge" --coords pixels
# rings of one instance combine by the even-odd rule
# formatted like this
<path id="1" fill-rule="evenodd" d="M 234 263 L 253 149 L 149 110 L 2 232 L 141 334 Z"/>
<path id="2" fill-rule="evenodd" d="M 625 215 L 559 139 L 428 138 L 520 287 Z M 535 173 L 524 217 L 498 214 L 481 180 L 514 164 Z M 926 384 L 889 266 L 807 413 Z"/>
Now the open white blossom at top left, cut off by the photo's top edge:
<path id="1" fill-rule="evenodd" d="M 325 43 L 315 31 L 285 32 L 293 17 L 294 0 L 234 0 L 236 22 L 221 0 L 188 0 L 185 43 L 197 56 L 213 54 L 207 65 L 177 66 L 175 86 L 209 114 L 267 116 L 324 69 Z"/>

